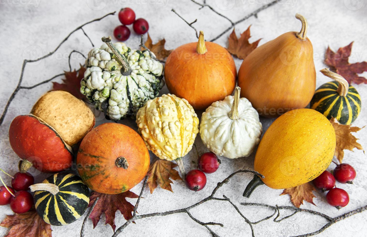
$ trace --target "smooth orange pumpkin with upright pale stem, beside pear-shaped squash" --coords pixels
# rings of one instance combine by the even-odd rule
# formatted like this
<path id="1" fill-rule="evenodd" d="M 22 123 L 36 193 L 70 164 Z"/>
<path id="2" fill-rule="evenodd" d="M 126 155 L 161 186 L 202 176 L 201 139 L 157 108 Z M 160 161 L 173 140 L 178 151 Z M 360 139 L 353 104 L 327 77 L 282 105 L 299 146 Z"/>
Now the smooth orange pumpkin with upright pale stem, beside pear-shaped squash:
<path id="1" fill-rule="evenodd" d="M 199 41 L 181 45 L 168 56 L 164 69 L 168 90 L 203 110 L 231 95 L 236 85 L 235 61 L 221 45 Z"/>

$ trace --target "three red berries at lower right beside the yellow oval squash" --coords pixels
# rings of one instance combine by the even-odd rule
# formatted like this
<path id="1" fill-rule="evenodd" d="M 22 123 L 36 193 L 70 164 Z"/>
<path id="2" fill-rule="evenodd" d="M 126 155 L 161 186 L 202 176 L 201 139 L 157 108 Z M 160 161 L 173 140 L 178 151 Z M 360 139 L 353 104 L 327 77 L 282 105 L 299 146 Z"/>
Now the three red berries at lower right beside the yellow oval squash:
<path id="1" fill-rule="evenodd" d="M 335 180 L 339 183 L 353 183 L 352 181 L 355 177 L 356 170 L 351 165 L 342 163 L 335 167 L 333 174 L 329 171 L 324 171 L 312 182 L 322 192 L 329 190 L 326 194 L 328 204 L 340 209 L 349 203 L 349 195 L 344 189 L 335 187 Z"/>

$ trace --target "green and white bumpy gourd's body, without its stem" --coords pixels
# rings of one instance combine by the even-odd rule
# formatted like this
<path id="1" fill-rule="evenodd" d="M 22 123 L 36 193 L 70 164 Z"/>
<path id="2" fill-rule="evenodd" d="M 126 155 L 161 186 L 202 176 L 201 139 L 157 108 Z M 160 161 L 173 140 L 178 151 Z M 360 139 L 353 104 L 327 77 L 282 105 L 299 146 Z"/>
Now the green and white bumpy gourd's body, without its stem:
<path id="1" fill-rule="evenodd" d="M 135 116 L 149 99 L 158 96 L 164 85 L 163 64 L 150 58 L 148 51 L 131 50 L 120 42 L 113 45 L 127 58 L 130 75 L 121 74 L 122 66 L 103 43 L 88 53 L 80 92 L 111 120 L 119 120 Z"/>

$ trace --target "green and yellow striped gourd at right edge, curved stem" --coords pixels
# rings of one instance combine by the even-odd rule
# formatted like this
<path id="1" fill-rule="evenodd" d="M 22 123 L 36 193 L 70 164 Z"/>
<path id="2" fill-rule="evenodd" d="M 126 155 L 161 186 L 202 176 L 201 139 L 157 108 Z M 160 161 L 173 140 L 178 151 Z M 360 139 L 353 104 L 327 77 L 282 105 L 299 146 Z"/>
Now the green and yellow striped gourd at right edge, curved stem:
<path id="1" fill-rule="evenodd" d="M 353 123 L 361 111 L 361 97 L 356 88 L 349 85 L 344 77 L 331 72 L 328 68 L 320 72 L 335 81 L 317 88 L 310 102 L 310 108 L 324 114 L 328 119 L 336 118 L 341 124 Z"/>

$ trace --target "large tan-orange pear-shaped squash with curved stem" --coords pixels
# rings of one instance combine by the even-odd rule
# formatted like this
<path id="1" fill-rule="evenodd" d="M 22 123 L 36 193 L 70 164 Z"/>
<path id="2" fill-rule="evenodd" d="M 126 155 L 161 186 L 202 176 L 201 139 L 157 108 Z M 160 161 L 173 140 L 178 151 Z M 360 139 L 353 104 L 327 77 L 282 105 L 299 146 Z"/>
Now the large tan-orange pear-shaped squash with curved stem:
<path id="1" fill-rule="evenodd" d="M 313 47 L 306 37 L 307 22 L 299 14 L 300 32 L 281 34 L 252 51 L 238 72 L 241 97 L 247 98 L 259 115 L 277 117 L 304 108 L 316 88 Z"/>

